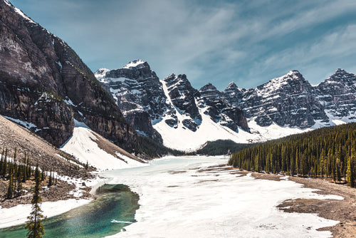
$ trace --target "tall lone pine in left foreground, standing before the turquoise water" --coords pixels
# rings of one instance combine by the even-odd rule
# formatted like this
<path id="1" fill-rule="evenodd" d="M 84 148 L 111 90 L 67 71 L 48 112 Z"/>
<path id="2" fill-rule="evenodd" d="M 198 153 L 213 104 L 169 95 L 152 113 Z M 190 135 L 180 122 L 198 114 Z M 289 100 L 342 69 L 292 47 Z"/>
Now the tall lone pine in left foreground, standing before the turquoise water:
<path id="1" fill-rule="evenodd" d="M 41 195 L 40 195 L 41 185 L 40 185 L 40 172 L 38 170 L 38 165 L 35 171 L 35 189 L 33 190 L 33 197 L 31 200 L 32 211 L 27 217 L 25 228 L 28 229 L 28 238 L 41 238 L 45 232 L 42 224 L 43 214 L 41 210 Z"/>

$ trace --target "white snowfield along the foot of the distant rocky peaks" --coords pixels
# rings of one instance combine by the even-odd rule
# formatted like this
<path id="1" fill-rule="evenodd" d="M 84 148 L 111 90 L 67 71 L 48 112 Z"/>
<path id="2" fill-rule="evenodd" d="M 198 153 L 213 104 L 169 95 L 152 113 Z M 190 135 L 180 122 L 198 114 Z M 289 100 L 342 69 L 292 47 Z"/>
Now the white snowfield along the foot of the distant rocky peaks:
<path id="1" fill-rule="evenodd" d="M 164 93 L 168 94 L 167 86 L 164 82 L 162 82 L 162 84 Z M 195 131 L 189 130 L 184 125 L 184 123 L 182 123 L 184 119 L 189 117 L 177 108 L 174 113 L 174 115 L 177 116 L 177 125 L 172 127 L 165 123 L 165 120 L 171 118 L 171 115 L 164 115 L 162 120 L 159 121 L 159 123 L 153 125 L 153 127 L 158 131 L 159 134 L 162 135 L 163 144 L 165 146 L 168 148 L 185 151 L 197 150 L 201 147 L 201 145 L 204 145 L 206 141 L 233 140 L 236 143 L 256 143 L 281 138 L 286 135 L 303 133 L 307 130 L 310 130 L 287 127 L 283 128 L 279 125 L 276 125 L 276 123 L 262 127 L 257 125 L 256 122 L 251 121 L 251 124 L 248 124 L 251 128 L 251 133 L 248 133 L 245 130 L 234 131 L 224 125 L 221 125 L 221 122 L 216 123 L 214 120 L 211 120 L 211 117 L 204 113 L 207 108 L 209 108 L 208 105 L 205 105 L 204 108 L 199 107 L 201 123 Z"/>

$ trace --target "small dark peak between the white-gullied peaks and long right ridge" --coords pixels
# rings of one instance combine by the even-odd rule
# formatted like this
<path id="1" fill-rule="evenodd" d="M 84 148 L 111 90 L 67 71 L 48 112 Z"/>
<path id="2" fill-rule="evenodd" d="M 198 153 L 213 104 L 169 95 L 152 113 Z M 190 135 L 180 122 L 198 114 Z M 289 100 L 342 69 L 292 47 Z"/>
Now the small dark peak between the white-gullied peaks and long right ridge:
<path id="1" fill-rule="evenodd" d="M 249 131 L 247 120 L 244 116 L 244 111 L 239 108 L 232 107 L 228 102 L 223 100 L 223 93 L 220 93 L 211 83 L 200 88 L 200 102 L 207 105 L 204 113 L 209 115 L 211 120 L 220 123 L 231 130 L 238 131 L 239 127 Z M 200 105 L 204 108 L 204 105 Z"/>

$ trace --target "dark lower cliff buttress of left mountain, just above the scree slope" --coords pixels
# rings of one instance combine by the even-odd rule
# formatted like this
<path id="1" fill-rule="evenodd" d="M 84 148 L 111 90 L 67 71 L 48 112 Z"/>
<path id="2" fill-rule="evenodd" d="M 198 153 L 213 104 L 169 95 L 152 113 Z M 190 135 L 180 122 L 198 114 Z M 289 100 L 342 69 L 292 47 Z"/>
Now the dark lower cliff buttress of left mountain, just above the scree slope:
<path id="1" fill-rule="evenodd" d="M 0 113 L 36 125 L 31 131 L 54 145 L 73 130 L 73 113 L 70 108 L 51 93 L 40 93 L 29 88 L 0 83 Z M 41 116 L 38 116 L 41 114 Z"/>

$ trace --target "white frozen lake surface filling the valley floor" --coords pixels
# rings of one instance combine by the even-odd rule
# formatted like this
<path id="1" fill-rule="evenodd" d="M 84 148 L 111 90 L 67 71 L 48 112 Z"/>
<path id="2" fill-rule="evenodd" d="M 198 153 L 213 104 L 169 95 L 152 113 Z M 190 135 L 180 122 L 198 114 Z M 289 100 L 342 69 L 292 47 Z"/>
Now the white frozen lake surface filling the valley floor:
<path id="1" fill-rule="evenodd" d="M 150 166 L 112 170 L 109 183 L 140 195 L 137 222 L 112 237 L 330 237 L 337 221 L 276 208 L 318 195 L 288 180 L 256 180 L 229 170 L 227 157 L 165 157 Z"/>

